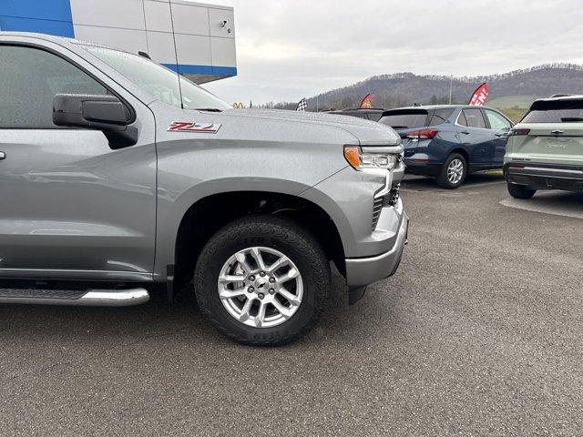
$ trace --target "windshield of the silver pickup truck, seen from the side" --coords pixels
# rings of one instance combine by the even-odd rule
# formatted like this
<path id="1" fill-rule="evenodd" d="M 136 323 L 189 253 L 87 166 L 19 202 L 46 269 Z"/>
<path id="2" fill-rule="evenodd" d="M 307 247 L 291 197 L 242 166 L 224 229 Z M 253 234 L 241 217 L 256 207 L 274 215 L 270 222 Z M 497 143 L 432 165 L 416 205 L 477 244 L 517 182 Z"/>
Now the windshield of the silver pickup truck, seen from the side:
<path id="1" fill-rule="evenodd" d="M 206 89 L 146 57 L 99 46 L 85 46 L 85 48 L 161 102 L 185 109 L 225 110 L 230 108 L 229 104 L 210 94 Z"/>

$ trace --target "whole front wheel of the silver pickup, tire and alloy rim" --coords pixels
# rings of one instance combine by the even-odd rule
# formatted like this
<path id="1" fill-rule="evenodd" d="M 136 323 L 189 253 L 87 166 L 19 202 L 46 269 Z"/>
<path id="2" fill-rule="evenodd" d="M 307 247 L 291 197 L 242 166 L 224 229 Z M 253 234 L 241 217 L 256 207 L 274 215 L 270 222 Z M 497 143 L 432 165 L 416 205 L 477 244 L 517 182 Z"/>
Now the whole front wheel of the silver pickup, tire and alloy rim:
<path id="1" fill-rule="evenodd" d="M 220 229 L 194 273 L 200 309 L 224 334 L 254 345 L 296 340 L 320 319 L 330 264 L 289 219 L 250 216 Z"/>

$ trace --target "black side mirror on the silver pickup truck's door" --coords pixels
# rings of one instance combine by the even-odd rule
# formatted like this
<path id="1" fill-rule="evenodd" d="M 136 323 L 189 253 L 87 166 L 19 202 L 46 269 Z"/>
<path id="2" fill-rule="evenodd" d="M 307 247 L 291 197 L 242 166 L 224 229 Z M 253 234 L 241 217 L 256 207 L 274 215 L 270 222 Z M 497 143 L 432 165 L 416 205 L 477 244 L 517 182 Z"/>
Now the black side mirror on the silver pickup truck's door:
<path id="1" fill-rule="evenodd" d="M 53 99 L 53 123 L 61 127 L 101 130 L 111 148 L 133 146 L 138 129 L 128 126 L 129 112 L 115 96 L 57 94 Z"/>

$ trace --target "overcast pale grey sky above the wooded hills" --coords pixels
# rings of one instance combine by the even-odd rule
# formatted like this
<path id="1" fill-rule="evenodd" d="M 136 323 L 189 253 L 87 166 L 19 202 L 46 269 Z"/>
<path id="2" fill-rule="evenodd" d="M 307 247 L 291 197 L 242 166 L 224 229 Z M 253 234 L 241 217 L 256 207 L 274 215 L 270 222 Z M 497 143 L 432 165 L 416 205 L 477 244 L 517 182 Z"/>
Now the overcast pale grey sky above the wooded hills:
<path id="1" fill-rule="evenodd" d="M 229 103 L 298 101 L 366 77 L 583 64 L 580 0 L 208 0 L 235 8 Z"/>

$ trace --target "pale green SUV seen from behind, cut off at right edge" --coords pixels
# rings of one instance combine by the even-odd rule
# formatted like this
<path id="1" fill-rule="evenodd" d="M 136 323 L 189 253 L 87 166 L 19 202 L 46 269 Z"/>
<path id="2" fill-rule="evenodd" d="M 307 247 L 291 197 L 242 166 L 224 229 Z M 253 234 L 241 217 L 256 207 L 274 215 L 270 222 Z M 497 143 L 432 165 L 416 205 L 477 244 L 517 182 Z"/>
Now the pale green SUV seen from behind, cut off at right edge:
<path id="1" fill-rule="evenodd" d="M 583 191 L 583 96 L 537 100 L 508 134 L 504 174 L 514 198 Z"/>

